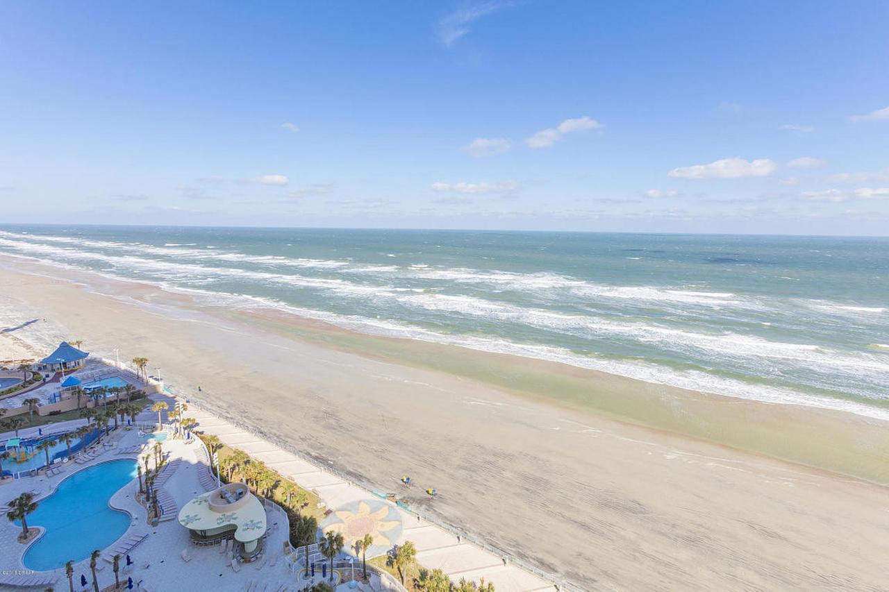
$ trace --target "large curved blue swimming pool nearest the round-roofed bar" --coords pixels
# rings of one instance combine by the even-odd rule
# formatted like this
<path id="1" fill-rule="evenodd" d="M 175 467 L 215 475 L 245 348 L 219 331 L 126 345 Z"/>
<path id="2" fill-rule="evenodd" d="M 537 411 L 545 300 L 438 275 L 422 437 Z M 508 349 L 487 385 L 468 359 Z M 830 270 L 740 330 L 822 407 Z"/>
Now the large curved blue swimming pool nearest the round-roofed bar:
<path id="1" fill-rule="evenodd" d="M 46 532 L 25 553 L 25 567 L 54 570 L 117 540 L 130 526 L 130 516 L 108 508 L 108 500 L 135 476 L 135 460 L 110 460 L 62 481 L 28 516 L 28 526 L 44 526 Z"/>

